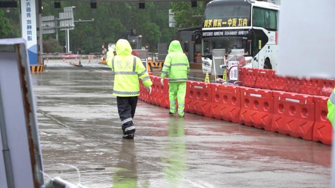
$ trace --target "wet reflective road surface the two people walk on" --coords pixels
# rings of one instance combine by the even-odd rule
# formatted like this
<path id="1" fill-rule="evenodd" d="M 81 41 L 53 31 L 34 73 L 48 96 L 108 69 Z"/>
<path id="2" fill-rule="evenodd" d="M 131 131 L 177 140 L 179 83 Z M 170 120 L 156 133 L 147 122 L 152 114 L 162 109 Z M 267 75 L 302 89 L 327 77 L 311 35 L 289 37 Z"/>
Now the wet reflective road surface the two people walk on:
<path id="1" fill-rule="evenodd" d="M 195 73 L 197 75 L 198 73 Z M 107 68 L 33 75 L 44 170 L 90 188 L 328 188 L 331 147 L 139 101 L 121 138 Z M 48 177 L 46 177 L 48 180 Z"/>

